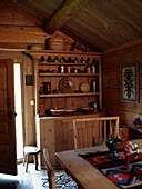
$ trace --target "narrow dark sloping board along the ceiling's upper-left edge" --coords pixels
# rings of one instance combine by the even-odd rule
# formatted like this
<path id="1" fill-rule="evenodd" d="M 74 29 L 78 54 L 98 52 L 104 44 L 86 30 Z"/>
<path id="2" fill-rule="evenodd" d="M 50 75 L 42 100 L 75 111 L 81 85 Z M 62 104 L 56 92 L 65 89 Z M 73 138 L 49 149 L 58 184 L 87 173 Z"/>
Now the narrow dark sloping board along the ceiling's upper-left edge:
<path id="1" fill-rule="evenodd" d="M 9 0 L 4 0 L 3 3 L 6 6 L 9 6 L 12 10 L 18 11 L 19 13 L 26 16 L 27 18 L 31 19 L 32 21 L 34 21 L 38 26 L 43 26 L 43 23 L 36 19 L 34 17 L 32 17 L 30 13 L 27 13 L 24 10 L 19 9 L 18 6 L 16 6 L 13 2 L 9 1 Z"/>

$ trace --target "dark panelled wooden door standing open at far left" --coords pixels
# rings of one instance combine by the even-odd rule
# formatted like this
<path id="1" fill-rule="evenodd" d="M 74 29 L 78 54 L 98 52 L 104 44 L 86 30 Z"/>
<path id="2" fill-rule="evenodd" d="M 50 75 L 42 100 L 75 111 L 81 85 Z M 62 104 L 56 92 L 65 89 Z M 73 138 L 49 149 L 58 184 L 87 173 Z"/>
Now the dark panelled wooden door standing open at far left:
<path id="1" fill-rule="evenodd" d="M 13 61 L 0 60 L 0 173 L 17 175 Z"/>

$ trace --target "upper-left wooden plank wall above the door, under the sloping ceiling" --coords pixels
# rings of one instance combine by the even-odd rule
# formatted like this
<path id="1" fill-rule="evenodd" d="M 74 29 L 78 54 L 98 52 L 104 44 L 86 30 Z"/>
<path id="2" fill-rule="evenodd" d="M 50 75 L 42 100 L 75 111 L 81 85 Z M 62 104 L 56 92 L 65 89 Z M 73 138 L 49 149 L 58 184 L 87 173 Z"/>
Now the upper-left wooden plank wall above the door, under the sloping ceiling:
<path id="1" fill-rule="evenodd" d="M 44 44 L 45 38 L 41 26 L 0 3 L 0 48 L 20 49 L 34 43 Z"/>

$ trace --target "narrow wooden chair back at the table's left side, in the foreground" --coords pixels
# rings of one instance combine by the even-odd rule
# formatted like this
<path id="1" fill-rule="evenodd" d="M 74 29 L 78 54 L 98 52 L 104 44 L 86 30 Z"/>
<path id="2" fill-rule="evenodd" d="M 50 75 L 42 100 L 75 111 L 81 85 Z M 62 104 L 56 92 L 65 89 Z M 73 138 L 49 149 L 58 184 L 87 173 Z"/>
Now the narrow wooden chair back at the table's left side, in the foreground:
<path id="1" fill-rule="evenodd" d="M 47 148 L 43 148 L 43 159 L 44 159 L 44 166 L 48 172 L 48 178 L 49 178 L 49 187 L 50 189 L 55 189 L 55 176 L 54 176 L 54 169 L 50 163 L 49 159 L 49 152 Z"/>

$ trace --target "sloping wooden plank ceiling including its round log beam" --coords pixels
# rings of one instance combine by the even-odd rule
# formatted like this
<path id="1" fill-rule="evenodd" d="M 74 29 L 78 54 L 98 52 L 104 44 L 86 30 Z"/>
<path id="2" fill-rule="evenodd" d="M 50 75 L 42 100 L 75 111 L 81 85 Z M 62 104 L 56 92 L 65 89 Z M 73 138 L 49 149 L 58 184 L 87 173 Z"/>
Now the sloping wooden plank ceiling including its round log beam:
<path id="1" fill-rule="evenodd" d="M 142 38 L 142 0 L 3 0 L 47 33 L 59 30 L 93 51 Z"/>

